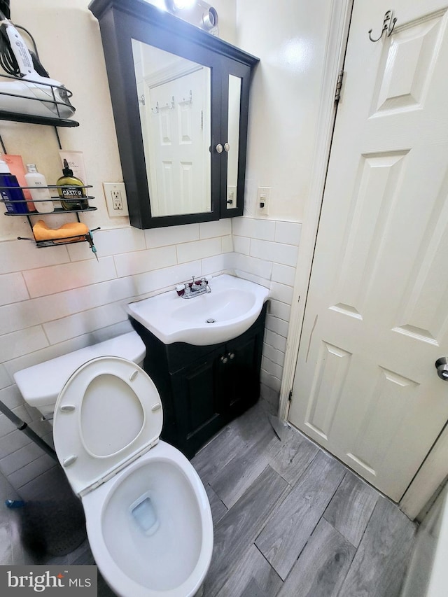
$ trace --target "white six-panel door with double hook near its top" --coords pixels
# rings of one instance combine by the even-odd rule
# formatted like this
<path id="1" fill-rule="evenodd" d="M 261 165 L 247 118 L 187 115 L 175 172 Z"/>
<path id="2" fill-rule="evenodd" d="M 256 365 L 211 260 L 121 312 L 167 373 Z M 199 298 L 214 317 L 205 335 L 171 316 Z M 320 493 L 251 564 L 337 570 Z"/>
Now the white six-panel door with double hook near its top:
<path id="1" fill-rule="evenodd" d="M 398 501 L 448 419 L 448 2 L 393 4 L 373 43 L 354 2 L 289 419 Z"/>

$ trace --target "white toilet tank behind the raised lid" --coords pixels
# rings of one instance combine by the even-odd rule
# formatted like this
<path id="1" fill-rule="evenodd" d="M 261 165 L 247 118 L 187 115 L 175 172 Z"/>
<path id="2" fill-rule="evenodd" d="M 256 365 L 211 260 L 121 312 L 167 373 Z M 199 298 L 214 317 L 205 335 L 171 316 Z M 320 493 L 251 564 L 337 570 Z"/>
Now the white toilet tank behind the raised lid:
<path id="1" fill-rule="evenodd" d="M 15 383 L 25 402 L 38 409 L 45 419 L 52 419 L 59 392 L 73 371 L 98 356 L 120 356 L 141 365 L 146 347 L 137 332 L 85 346 L 83 349 L 27 367 L 14 374 Z"/>

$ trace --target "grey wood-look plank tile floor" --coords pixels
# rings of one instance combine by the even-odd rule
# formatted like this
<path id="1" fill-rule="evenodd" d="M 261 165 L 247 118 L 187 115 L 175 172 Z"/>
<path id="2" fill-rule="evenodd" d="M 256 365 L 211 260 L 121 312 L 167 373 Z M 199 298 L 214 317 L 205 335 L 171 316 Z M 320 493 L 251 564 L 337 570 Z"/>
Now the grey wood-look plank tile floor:
<path id="1" fill-rule="evenodd" d="M 280 435 L 260 402 L 193 458 L 214 518 L 204 597 L 399 597 L 415 525 L 297 430 Z M 3 514 L 0 563 L 31 563 Z M 94 561 L 85 542 L 45 563 Z M 101 577 L 98 595 L 114 595 Z"/>

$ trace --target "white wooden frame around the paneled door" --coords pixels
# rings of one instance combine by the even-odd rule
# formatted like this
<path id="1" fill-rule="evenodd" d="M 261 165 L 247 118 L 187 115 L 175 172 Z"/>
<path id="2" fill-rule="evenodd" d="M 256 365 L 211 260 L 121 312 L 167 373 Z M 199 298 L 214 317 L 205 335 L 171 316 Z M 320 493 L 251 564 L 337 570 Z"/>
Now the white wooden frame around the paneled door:
<path id="1" fill-rule="evenodd" d="M 325 40 L 325 61 L 318 108 L 316 147 L 314 149 L 311 183 L 304 204 L 304 222 L 295 270 L 293 301 L 290 311 L 286 353 L 280 388 L 279 418 L 288 420 L 290 398 L 293 393 L 295 368 L 299 353 L 300 336 L 304 322 L 307 291 L 311 277 L 318 223 L 323 203 L 323 192 L 330 160 L 332 133 L 337 106 L 344 101 L 344 86 L 336 104 L 334 101 L 339 71 L 344 66 L 346 45 L 353 3 L 356 0 L 332 0 L 331 16 Z M 346 76 L 346 73 L 344 73 Z M 448 424 L 437 437 L 398 506 L 410 519 L 420 518 L 426 506 L 447 479 Z M 419 517 L 420 514 L 420 517 Z"/>

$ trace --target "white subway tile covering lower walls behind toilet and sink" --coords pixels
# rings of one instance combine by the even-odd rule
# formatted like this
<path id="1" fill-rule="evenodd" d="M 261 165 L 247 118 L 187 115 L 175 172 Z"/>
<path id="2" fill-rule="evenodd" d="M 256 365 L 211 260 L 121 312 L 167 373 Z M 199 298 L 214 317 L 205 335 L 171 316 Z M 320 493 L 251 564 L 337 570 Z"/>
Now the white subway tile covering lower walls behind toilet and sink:
<path id="1" fill-rule="evenodd" d="M 51 428 L 25 405 L 13 374 L 131 329 L 125 304 L 194 276 L 235 273 L 271 290 L 262 395 L 278 401 L 300 223 L 234 218 L 94 233 L 87 243 L 36 249 L 0 242 L 0 400 L 51 442 Z M 0 414 L 0 471 L 20 492 L 54 461 Z"/>

